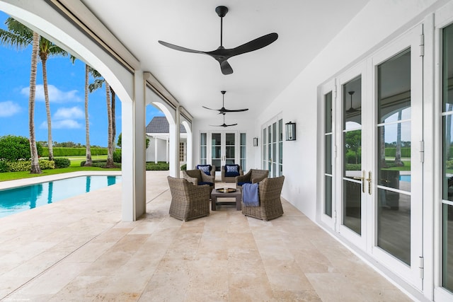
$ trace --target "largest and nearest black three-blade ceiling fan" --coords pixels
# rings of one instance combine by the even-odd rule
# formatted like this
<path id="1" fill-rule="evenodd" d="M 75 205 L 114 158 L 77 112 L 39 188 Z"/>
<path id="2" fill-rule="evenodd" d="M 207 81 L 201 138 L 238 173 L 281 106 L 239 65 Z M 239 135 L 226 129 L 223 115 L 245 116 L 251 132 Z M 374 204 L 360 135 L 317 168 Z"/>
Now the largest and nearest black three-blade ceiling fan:
<path id="1" fill-rule="evenodd" d="M 185 47 L 180 47 L 178 45 L 173 45 L 164 41 L 159 40 L 158 42 L 161 45 L 164 45 L 166 47 L 169 47 L 173 50 L 179 50 L 181 52 L 193 52 L 195 54 L 207 54 L 214 59 L 217 60 L 220 64 L 220 69 L 222 70 L 222 74 L 232 74 L 233 69 L 231 68 L 230 64 L 227 59 L 234 57 L 238 54 L 244 54 L 246 52 L 253 52 L 253 50 L 259 50 L 260 48 L 263 48 L 265 46 L 270 45 L 270 43 L 274 42 L 277 40 L 277 33 L 270 33 L 268 35 L 263 35 L 262 37 L 258 37 L 255 40 L 251 40 L 250 42 L 247 42 L 243 45 L 240 45 L 238 47 L 234 48 L 229 48 L 226 49 L 223 46 L 223 18 L 228 13 L 228 8 L 226 6 L 217 6 L 215 8 L 215 12 L 217 15 L 220 17 L 220 46 L 217 48 L 217 50 L 212 50 L 212 52 L 202 52 L 200 50 L 190 50 Z"/>

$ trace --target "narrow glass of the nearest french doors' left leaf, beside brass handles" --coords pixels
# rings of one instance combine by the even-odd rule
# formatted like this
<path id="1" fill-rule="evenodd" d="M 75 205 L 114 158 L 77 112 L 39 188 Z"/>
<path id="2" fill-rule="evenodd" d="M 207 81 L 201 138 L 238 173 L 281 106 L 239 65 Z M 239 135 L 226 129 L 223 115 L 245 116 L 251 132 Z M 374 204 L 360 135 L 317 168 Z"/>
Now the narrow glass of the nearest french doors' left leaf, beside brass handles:
<path id="1" fill-rule="evenodd" d="M 362 77 L 343 84 L 343 225 L 362 234 Z M 364 172 L 365 173 L 365 172 Z"/>

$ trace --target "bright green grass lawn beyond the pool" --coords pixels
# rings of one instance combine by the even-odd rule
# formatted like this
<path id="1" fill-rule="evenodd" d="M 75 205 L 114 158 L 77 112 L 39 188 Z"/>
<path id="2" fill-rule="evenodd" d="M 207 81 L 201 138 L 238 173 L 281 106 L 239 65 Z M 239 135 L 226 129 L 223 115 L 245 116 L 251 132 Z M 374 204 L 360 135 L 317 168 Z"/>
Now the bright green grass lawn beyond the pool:
<path id="1" fill-rule="evenodd" d="M 61 174 L 61 173 L 69 173 L 69 172 L 76 172 L 76 171 L 105 171 L 105 168 L 98 168 L 98 167 L 81 167 L 81 161 L 85 161 L 84 156 L 65 156 L 69 158 L 71 161 L 71 165 L 68 168 L 61 168 L 61 169 L 51 169 L 51 170 L 42 170 L 42 174 L 30 174 L 29 171 L 21 171 L 21 172 L 6 172 L 0 173 L 0 181 L 5 180 L 18 180 L 22 178 L 35 178 L 38 176 L 43 175 L 54 175 L 54 174 Z M 93 160 L 95 159 L 106 159 L 107 156 L 93 156 Z M 108 170 L 121 170 L 120 168 L 112 168 Z"/>

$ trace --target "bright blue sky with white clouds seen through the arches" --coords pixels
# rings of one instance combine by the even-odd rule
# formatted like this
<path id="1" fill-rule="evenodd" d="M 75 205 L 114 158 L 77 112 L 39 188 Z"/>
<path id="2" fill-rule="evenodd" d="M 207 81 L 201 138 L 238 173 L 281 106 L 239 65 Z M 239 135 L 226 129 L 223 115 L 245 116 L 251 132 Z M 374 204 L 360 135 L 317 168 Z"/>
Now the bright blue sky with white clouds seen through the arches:
<path id="1" fill-rule="evenodd" d="M 6 13 L 0 11 L 0 28 L 6 29 Z M 15 50 L 0 45 L 0 137 L 20 135 L 30 137 L 28 127 L 28 95 L 30 87 L 31 46 Z M 90 79 L 90 83 L 93 79 Z M 54 142 L 73 141 L 85 144 L 84 86 L 85 64 L 69 57 L 47 59 L 52 139 Z M 88 95 L 90 144 L 107 146 L 107 107 L 105 88 Z M 147 106 L 147 124 L 164 114 Z M 145 125 L 146 126 L 146 125 Z M 116 133 L 121 132 L 121 101 L 116 101 Z M 42 64 L 38 60 L 35 100 L 35 135 L 37 141 L 47 141 L 47 117 L 42 90 Z"/>

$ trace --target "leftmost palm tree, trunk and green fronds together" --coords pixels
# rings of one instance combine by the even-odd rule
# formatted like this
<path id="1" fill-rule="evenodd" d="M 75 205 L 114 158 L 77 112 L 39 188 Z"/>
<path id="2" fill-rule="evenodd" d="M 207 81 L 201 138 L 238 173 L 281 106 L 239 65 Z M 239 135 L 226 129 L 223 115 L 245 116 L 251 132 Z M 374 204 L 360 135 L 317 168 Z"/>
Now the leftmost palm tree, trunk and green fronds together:
<path id="1" fill-rule="evenodd" d="M 8 30 L 0 29 L 0 43 L 8 45 L 16 50 L 23 50 L 32 45 L 31 71 L 30 71 L 30 95 L 28 98 L 29 128 L 30 128 L 30 173 L 42 173 L 39 161 L 38 150 L 36 149 L 35 138 L 35 94 L 36 94 L 36 69 L 38 68 L 38 50 L 40 35 L 33 32 L 22 23 L 13 18 L 5 21 Z"/>

